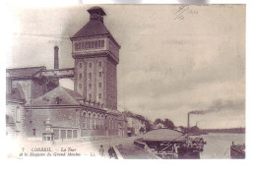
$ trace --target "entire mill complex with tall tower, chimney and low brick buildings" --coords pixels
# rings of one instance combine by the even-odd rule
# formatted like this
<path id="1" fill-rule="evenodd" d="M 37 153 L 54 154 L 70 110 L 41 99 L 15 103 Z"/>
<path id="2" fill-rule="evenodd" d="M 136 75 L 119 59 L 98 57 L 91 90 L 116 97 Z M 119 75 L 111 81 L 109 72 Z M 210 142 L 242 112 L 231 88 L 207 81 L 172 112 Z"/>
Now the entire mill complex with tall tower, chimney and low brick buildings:
<path id="1" fill-rule="evenodd" d="M 126 117 L 117 110 L 121 47 L 103 24 L 105 12 L 100 7 L 88 12 L 88 24 L 70 38 L 74 67 L 59 68 L 56 45 L 53 70 L 7 69 L 7 135 L 43 140 L 47 128 L 62 141 L 127 136 Z M 74 80 L 74 90 L 59 86 L 63 78 Z"/>

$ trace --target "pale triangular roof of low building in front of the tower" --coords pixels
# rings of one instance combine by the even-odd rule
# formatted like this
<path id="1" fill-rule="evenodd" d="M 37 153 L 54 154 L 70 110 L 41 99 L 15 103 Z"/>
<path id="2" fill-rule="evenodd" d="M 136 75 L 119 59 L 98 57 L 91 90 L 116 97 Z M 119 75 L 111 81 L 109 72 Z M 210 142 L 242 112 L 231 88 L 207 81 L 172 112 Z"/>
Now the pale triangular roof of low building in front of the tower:
<path id="1" fill-rule="evenodd" d="M 67 91 L 67 88 L 56 87 L 34 99 L 32 105 L 80 105 L 80 102 L 75 98 L 77 96 L 79 94 L 75 91 L 72 94 Z M 59 103 L 57 103 L 57 100 L 59 100 Z"/>

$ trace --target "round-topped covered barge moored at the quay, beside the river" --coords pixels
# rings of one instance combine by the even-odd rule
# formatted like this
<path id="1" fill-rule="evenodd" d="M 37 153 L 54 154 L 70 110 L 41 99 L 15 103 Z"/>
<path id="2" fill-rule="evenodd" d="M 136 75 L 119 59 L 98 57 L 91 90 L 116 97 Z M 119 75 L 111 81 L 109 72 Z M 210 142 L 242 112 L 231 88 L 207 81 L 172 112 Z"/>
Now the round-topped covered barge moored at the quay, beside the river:
<path id="1" fill-rule="evenodd" d="M 157 129 L 134 141 L 134 145 L 151 150 L 163 159 L 200 159 L 205 142 L 191 139 L 182 132 Z"/>

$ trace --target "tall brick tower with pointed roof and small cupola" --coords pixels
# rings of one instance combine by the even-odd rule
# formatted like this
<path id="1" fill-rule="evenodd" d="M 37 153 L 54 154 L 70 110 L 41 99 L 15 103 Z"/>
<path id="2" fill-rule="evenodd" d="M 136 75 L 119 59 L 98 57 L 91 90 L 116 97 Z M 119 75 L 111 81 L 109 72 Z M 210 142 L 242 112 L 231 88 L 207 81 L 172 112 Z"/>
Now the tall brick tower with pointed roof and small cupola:
<path id="1" fill-rule="evenodd" d="M 103 24 L 105 12 L 100 7 L 93 7 L 88 12 L 89 23 L 71 37 L 74 87 L 87 100 L 117 109 L 116 66 L 120 45 Z"/>

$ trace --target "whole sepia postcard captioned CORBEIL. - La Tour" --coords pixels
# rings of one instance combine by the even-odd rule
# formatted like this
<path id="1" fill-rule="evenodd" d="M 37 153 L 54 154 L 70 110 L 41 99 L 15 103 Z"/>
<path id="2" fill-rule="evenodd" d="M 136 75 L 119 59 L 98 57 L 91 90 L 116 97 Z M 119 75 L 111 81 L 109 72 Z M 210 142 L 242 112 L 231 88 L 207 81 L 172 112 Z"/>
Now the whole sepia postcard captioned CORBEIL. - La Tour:
<path id="1" fill-rule="evenodd" d="M 246 157 L 244 4 L 10 12 L 8 158 Z"/>

